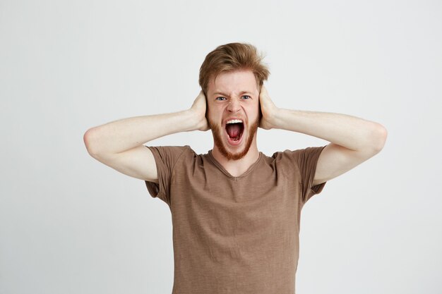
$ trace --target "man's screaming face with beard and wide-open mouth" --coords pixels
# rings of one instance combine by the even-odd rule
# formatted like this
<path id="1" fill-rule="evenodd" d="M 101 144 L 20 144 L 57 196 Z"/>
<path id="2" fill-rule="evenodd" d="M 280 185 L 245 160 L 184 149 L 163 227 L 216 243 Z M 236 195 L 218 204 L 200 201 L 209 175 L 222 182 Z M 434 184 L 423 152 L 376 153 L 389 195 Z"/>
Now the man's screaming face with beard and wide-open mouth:
<path id="1" fill-rule="evenodd" d="M 210 79 L 208 123 L 215 148 L 227 159 L 241 159 L 256 144 L 259 90 L 251 71 L 220 73 Z"/>

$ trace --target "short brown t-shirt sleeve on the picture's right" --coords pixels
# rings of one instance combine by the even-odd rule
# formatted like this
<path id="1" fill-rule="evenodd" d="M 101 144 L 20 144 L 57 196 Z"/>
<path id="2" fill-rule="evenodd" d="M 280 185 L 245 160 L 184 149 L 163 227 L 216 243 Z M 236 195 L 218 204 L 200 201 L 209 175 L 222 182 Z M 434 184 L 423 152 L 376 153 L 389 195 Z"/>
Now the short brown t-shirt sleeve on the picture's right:
<path id="1" fill-rule="evenodd" d="M 313 185 L 318 158 L 324 148 L 325 146 L 308 147 L 292 152 L 292 158 L 297 163 L 299 173 L 301 174 L 301 200 L 303 204 L 307 202 L 313 195 L 319 194 L 325 186 L 326 182 L 319 185 Z"/>

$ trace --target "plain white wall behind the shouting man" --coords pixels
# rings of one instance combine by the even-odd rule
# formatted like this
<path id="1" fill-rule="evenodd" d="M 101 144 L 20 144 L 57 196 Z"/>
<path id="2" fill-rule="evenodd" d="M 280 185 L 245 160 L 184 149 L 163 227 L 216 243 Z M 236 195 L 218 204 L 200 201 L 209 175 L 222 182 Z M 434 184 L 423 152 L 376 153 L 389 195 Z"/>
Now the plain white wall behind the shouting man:
<path id="1" fill-rule="evenodd" d="M 297 293 L 441 293 L 441 1 L 1 0 L 1 294 L 172 292 L 167 204 L 92 159 L 83 134 L 189 108 L 228 42 L 265 53 L 277 106 L 388 130 L 304 207 Z M 326 143 L 258 131 L 267 155 Z"/>

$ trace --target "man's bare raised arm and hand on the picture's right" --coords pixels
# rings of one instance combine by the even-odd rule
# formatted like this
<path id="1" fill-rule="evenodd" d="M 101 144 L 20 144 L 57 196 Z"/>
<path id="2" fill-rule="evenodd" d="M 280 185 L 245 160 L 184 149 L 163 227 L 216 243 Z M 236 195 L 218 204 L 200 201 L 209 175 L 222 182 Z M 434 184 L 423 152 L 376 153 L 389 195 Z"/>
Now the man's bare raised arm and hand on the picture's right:
<path id="1" fill-rule="evenodd" d="M 387 130 L 383 125 L 345 114 L 279 109 L 265 87 L 260 94 L 261 128 L 280 128 L 330 142 L 316 166 L 313 185 L 340 176 L 381 151 Z"/>

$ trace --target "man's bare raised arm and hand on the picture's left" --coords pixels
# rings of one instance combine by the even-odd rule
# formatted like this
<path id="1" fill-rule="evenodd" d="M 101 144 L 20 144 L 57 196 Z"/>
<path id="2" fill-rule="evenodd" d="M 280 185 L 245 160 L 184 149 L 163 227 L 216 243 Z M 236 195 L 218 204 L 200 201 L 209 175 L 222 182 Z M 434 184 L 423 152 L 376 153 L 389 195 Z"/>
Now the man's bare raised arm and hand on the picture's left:
<path id="1" fill-rule="evenodd" d="M 157 182 L 151 140 L 191 130 L 208 130 L 205 96 L 201 91 L 190 109 L 172 114 L 136 116 L 90 128 L 83 136 L 89 154 L 98 161 L 133 178 Z"/>

